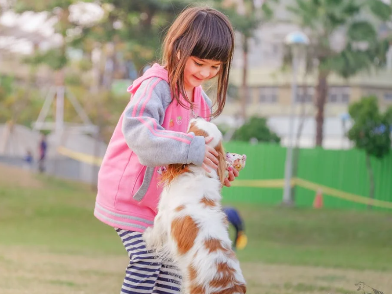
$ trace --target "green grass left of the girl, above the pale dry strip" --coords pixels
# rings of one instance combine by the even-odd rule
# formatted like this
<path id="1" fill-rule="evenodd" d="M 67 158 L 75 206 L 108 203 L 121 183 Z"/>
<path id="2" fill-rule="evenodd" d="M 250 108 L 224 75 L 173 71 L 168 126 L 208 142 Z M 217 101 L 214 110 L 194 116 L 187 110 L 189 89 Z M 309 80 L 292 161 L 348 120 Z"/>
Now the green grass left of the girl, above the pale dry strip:
<path id="1" fill-rule="evenodd" d="M 49 178 L 39 189 L 0 187 L 0 201 L 0 245 L 123 254 L 114 229 L 93 216 L 95 194 L 87 186 Z"/>

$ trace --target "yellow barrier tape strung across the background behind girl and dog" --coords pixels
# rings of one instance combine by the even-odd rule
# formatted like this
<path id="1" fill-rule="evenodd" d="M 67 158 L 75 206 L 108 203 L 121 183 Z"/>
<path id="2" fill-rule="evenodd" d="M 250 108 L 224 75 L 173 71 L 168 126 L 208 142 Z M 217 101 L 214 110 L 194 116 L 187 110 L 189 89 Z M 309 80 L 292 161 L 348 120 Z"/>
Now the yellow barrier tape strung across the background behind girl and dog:
<path id="1" fill-rule="evenodd" d="M 58 147 L 57 152 L 70 157 L 74 160 L 85 162 L 88 164 L 93 164 L 96 166 L 100 166 L 102 163 L 102 158 L 92 156 L 86 153 L 82 152 L 77 152 L 70 150 L 66 147 Z M 369 199 L 368 197 L 365 196 L 360 196 L 356 194 L 351 194 L 347 193 L 341 190 L 333 189 L 327 186 L 323 186 L 317 183 L 313 183 L 301 178 L 294 178 L 291 181 L 291 186 L 293 187 L 294 185 L 297 185 L 299 187 L 313 190 L 315 192 L 321 190 L 322 193 L 328 195 L 328 196 L 333 196 L 333 197 L 338 197 L 342 198 L 348 201 L 353 201 L 357 203 L 363 203 L 363 204 L 371 204 L 373 206 L 378 206 L 382 208 L 390 208 L 392 209 L 392 202 L 388 201 L 383 201 L 383 200 L 378 200 L 378 199 Z M 241 180 L 237 179 L 232 183 L 233 187 L 252 187 L 252 188 L 283 188 L 284 187 L 284 179 L 266 179 L 266 180 Z"/>

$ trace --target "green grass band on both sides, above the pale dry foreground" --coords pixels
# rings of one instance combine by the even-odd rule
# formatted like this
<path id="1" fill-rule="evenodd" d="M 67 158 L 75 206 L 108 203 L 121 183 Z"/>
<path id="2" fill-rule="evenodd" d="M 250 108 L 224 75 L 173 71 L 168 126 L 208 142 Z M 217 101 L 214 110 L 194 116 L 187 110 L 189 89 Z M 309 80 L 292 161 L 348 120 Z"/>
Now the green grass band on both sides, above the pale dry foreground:
<path id="1" fill-rule="evenodd" d="M 91 188 L 40 180 L 46 182 L 42 188 L 0 186 L 0 245 L 124 254 L 114 230 L 94 218 Z M 241 261 L 392 270 L 389 213 L 235 205 L 248 236 L 248 246 L 238 252 Z"/>

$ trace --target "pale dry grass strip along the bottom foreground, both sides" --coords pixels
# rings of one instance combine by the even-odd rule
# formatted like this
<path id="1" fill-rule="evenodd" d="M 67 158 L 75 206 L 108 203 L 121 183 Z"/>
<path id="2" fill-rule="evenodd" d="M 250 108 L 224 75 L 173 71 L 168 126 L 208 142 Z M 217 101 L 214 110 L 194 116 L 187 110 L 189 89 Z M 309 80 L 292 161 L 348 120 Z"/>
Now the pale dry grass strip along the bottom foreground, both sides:
<path id="1" fill-rule="evenodd" d="M 80 256 L 0 247 L 2 294 L 119 293 L 127 257 Z M 243 263 L 247 294 L 353 294 L 364 281 L 392 289 L 392 273 Z"/>

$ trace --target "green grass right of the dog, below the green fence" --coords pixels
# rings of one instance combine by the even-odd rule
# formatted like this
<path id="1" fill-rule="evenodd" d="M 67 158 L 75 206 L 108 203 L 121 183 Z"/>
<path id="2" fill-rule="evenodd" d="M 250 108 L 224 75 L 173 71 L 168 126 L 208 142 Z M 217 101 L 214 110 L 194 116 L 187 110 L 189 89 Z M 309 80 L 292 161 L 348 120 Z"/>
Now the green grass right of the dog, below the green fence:
<path id="1" fill-rule="evenodd" d="M 249 237 L 243 261 L 392 270 L 389 213 L 236 206 Z"/>

